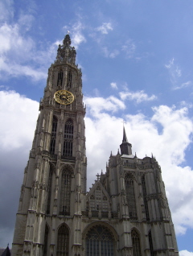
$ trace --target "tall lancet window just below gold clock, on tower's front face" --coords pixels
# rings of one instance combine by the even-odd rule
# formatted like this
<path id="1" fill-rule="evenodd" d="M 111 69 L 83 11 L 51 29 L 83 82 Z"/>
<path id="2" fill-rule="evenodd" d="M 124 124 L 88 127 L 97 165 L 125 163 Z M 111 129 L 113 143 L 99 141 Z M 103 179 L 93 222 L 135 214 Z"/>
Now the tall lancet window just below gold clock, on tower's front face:
<path id="1" fill-rule="evenodd" d="M 68 119 L 64 127 L 64 145 L 63 145 L 63 155 L 72 156 L 72 147 L 73 147 L 73 122 L 71 119 Z"/>

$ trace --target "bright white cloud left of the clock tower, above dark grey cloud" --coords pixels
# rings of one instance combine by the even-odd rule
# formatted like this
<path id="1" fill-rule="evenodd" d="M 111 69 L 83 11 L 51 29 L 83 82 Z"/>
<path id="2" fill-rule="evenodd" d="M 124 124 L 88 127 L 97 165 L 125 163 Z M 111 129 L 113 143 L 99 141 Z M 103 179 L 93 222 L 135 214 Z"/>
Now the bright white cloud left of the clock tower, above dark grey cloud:
<path id="1" fill-rule="evenodd" d="M 22 147 L 23 143 L 31 143 L 39 103 L 14 91 L 0 91 L 0 109 L 0 120 L 3 122 L 0 126 L 1 149 L 11 151 Z"/>

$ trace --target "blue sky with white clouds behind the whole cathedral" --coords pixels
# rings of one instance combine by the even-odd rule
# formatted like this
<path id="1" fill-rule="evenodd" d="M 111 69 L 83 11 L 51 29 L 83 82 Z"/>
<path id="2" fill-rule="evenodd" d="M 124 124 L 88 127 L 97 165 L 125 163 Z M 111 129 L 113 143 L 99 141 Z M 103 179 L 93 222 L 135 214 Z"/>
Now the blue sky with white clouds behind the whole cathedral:
<path id="1" fill-rule="evenodd" d="M 192 256 L 191 0 L 0 1 L 0 246 L 12 242 L 47 68 L 67 31 L 83 72 L 88 188 L 124 119 L 133 153 L 162 167 L 180 256 Z"/>

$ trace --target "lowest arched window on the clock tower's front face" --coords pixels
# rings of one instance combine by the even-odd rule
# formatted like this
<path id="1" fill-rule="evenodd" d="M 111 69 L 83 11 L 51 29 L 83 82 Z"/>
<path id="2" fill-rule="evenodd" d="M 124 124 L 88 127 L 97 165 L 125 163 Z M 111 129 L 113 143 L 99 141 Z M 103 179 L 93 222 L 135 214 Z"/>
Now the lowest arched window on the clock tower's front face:
<path id="1" fill-rule="evenodd" d="M 57 238 L 56 256 L 68 256 L 69 251 L 69 231 L 66 225 L 60 226 Z"/>

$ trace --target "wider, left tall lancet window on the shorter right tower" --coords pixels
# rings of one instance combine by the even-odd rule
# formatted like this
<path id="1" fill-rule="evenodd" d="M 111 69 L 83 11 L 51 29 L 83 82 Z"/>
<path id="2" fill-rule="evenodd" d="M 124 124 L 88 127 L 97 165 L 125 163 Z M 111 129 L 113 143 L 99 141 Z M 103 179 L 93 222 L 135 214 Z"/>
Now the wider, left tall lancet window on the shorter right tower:
<path id="1" fill-rule="evenodd" d="M 125 190 L 126 190 L 126 199 L 129 208 L 129 217 L 131 219 L 137 219 L 137 209 L 134 195 L 134 184 L 133 184 L 133 176 L 126 175 L 125 176 Z"/>

